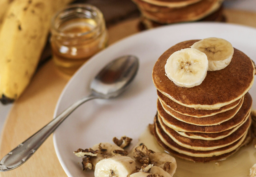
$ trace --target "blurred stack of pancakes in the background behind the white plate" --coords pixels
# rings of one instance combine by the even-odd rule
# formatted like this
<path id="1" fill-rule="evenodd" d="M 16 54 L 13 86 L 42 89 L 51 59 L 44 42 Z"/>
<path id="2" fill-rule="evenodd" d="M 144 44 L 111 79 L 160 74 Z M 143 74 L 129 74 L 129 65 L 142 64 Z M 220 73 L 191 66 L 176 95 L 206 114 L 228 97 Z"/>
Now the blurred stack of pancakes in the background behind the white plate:
<path id="1" fill-rule="evenodd" d="M 206 18 L 222 21 L 223 0 L 132 0 L 142 14 L 147 28 L 177 22 L 189 22 Z"/>

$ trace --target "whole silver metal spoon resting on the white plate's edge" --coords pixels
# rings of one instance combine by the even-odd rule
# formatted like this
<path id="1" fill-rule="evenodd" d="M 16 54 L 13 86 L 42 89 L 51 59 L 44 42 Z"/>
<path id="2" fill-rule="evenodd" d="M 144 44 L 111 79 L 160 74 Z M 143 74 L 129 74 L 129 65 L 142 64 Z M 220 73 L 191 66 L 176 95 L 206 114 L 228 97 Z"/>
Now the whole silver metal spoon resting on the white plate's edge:
<path id="1" fill-rule="evenodd" d="M 26 162 L 56 128 L 81 104 L 91 99 L 109 99 L 118 96 L 134 79 L 139 67 L 135 56 L 123 56 L 107 64 L 91 82 L 91 94 L 76 101 L 0 161 L 0 171 L 8 171 Z"/>

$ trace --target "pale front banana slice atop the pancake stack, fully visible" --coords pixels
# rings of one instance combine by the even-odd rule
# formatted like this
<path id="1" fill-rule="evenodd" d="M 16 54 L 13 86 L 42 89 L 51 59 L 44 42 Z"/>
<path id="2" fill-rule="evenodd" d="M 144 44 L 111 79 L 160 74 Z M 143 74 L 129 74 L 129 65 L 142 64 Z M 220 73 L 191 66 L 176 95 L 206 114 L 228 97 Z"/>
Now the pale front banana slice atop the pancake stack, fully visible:
<path id="1" fill-rule="evenodd" d="M 206 77 L 208 60 L 197 49 L 182 49 L 174 52 L 165 64 L 166 76 L 180 87 L 200 85 Z"/>

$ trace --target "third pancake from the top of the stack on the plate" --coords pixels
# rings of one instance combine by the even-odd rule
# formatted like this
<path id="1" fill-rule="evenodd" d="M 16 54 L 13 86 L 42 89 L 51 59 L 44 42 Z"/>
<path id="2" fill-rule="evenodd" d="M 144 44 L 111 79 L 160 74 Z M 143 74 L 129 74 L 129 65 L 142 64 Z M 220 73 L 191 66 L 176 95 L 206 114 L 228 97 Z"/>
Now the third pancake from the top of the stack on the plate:
<path id="1" fill-rule="evenodd" d="M 162 106 L 162 109 L 167 114 L 174 117 L 175 119 L 178 119 L 182 122 L 192 124 L 192 125 L 208 126 L 208 125 L 219 125 L 222 122 L 232 119 L 232 117 L 234 117 L 235 114 L 237 114 L 237 112 L 241 108 L 241 106 L 243 104 L 243 99 L 242 99 L 242 101 L 240 101 L 240 103 L 235 108 L 228 110 L 226 112 L 222 112 L 222 113 L 219 113 L 219 114 L 216 114 L 213 116 L 208 116 L 208 117 L 192 117 L 192 116 L 182 115 L 182 114 L 175 112 L 172 109 L 168 108 L 161 101 L 159 101 L 159 99 L 157 100 L 157 104 L 159 104 L 159 105 L 157 105 L 157 108 L 161 109 L 161 106 Z"/>

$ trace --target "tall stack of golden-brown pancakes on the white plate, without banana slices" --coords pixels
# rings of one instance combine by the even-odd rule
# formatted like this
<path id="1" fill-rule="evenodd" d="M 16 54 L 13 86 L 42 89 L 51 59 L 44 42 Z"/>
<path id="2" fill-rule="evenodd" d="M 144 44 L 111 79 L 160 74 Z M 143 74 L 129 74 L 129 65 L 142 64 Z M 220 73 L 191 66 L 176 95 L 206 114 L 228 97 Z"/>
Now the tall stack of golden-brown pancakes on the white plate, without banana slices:
<path id="1" fill-rule="evenodd" d="M 234 49 L 230 64 L 208 71 L 195 87 L 175 85 L 165 75 L 165 64 L 175 51 L 198 40 L 176 44 L 163 53 L 153 68 L 157 88 L 154 136 L 171 154 L 194 162 L 225 159 L 248 143 L 255 66 L 248 56 Z"/>

